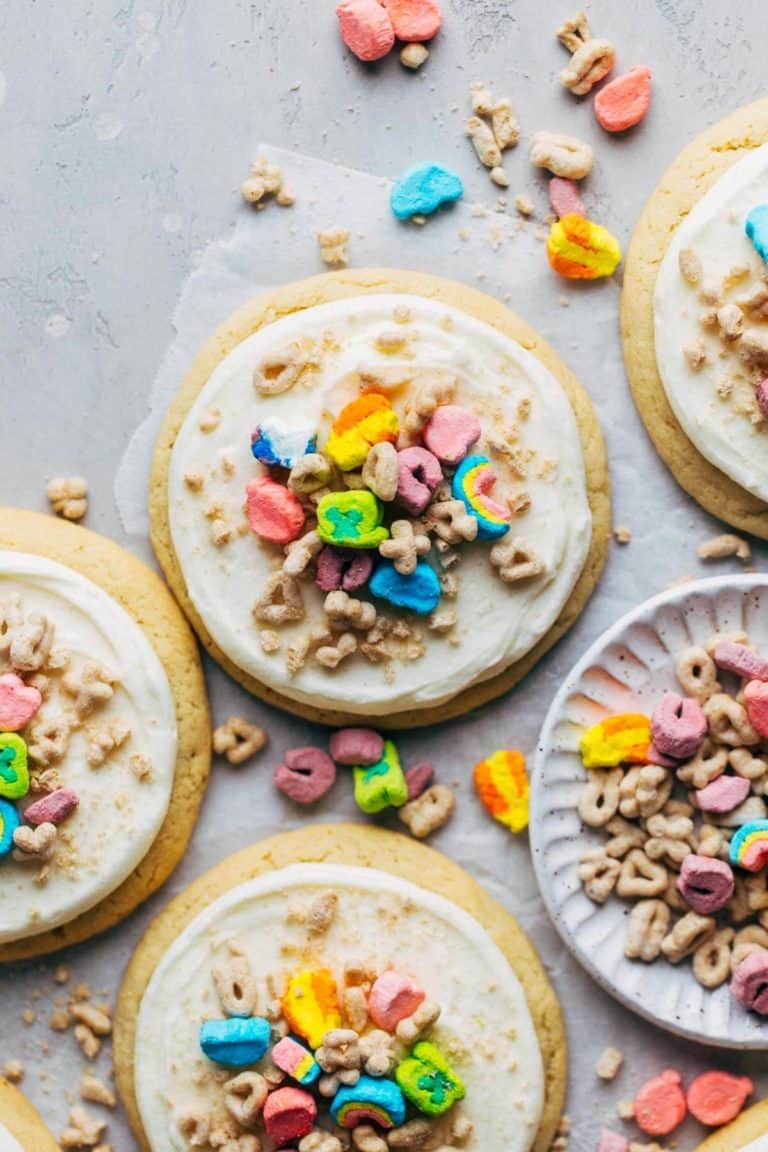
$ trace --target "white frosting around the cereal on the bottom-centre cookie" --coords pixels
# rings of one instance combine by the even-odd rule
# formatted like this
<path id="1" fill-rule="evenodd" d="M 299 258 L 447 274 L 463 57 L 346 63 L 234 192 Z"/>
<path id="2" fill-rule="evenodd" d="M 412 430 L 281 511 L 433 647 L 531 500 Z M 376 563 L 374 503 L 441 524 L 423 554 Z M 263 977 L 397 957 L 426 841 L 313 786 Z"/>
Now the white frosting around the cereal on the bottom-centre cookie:
<path id="1" fill-rule="evenodd" d="M 328 890 L 339 896 L 336 915 L 320 942 L 311 938 L 307 956 L 306 927 L 287 923 L 287 912 Z M 458 1107 L 474 1127 L 467 1152 L 531 1146 L 543 1104 L 541 1055 L 523 988 L 485 930 L 449 901 L 388 873 L 296 864 L 221 896 L 154 970 L 135 1049 L 136 1096 L 152 1152 L 187 1152 L 176 1108 L 221 1102 L 198 1031 L 205 1017 L 221 1015 L 211 969 L 228 955 L 229 941 L 237 941 L 257 980 L 313 964 L 340 975 L 350 962 L 410 972 L 442 1008 L 433 1040 L 443 1051 L 461 1041 L 463 1054 L 451 1062 L 466 1089 Z M 290 960 L 290 945 L 302 949 L 301 960 Z M 263 1144 L 265 1152 L 272 1146 Z"/>

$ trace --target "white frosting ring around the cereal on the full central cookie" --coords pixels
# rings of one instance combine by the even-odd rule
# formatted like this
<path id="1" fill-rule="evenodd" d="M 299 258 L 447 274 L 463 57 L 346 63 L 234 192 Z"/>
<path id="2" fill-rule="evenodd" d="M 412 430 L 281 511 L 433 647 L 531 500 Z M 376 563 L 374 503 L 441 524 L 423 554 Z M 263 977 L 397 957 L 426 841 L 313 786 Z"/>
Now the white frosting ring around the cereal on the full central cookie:
<path id="1" fill-rule="evenodd" d="M 411 312 L 410 323 L 403 326 L 413 336 L 408 358 L 375 347 L 380 333 L 393 331 L 396 306 Z M 299 385 L 282 395 L 257 397 L 254 366 L 284 354 L 295 340 L 315 340 L 324 347 L 311 389 Z M 476 410 L 486 435 L 496 431 L 503 437 L 504 430 L 519 425 L 517 444 L 534 450 L 523 482 L 532 503 L 511 531 L 535 548 L 547 573 L 533 581 L 503 584 L 491 567 L 489 544 L 464 546 L 456 569 L 458 598 L 442 601 L 456 607 L 458 624 L 449 636 L 428 632 L 424 657 L 397 662 L 394 676 L 386 662 L 373 665 L 360 655 L 334 672 L 310 659 L 291 677 L 283 654 L 261 651 L 258 628 L 266 626 L 257 627 L 251 614 L 282 551 L 264 545 L 250 531 L 215 547 L 203 509 L 219 502 L 233 521 L 243 522 L 245 485 L 260 471 L 250 450 L 250 433 L 259 420 L 276 417 L 304 427 L 327 426 L 328 416 L 356 395 L 344 393 L 340 384 L 344 377 L 360 366 L 404 362 L 457 371 L 466 381 L 459 386 L 457 402 L 464 400 Z M 531 401 L 525 420 L 518 415 L 523 399 Z M 396 408 L 402 408 L 402 400 L 393 395 Z M 200 417 L 216 409 L 219 426 L 201 432 Z M 319 442 L 322 446 L 322 435 Z M 222 455 L 234 465 L 229 477 L 216 467 Z M 499 473 L 496 493 L 503 500 L 504 492 L 519 490 L 520 482 L 503 457 L 492 456 L 492 462 Z M 203 493 L 185 486 L 188 472 L 206 476 Z M 184 420 L 172 455 L 168 499 L 174 550 L 189 594 L 219 647 L 245 672 L 291 699 L 366 715 L 438 704 L 523 657 L 557 619 L 584 566 L 591 537 L 578 429 L 558 381 L 534 356 L 489 325 L 416 296 L 382 294 L 322 304 L 269 324 L 238 344 L 212 373 Z M 307 615 L 319 617 L 322 593 L 311 581 L 302 582 L 302 590 Z M 282 628 L 283 651 L 306 630 L 307 620 Z"/>

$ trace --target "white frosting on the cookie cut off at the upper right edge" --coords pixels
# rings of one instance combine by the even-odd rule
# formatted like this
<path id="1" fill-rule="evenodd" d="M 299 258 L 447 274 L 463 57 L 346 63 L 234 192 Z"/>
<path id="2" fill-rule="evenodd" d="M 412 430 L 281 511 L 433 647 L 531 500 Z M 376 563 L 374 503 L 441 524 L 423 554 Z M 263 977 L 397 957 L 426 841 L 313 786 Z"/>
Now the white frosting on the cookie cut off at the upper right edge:
<path id="1" fill-rule="evenodd" d="M 768 202 L 768 145 L 755 149 L 730 168 L 679 225 L 667 249 L 654 297 L 656 363 L 671 408 L 685 434 L 732 480 L 768 501 L 768 425 L 752 423 L 738 406 L 721 400 L 717 386 L 725 380 L 753 393 L 735 354 L 725 359 L 716 333 L 705 331 L 699 317 L 706 303 L 680 275 L 679 253 L 692 249 L 704 265 L 704 285 L 720 285 L 737 265 L 748 278 L 733 285 L 731 303 L 767 271 L 744 230 L 752 209 Z M 760 325 L 765 327 L 765 325 Z M 694 371 L 683 349 L 702 340 L 708 363 Z"/>

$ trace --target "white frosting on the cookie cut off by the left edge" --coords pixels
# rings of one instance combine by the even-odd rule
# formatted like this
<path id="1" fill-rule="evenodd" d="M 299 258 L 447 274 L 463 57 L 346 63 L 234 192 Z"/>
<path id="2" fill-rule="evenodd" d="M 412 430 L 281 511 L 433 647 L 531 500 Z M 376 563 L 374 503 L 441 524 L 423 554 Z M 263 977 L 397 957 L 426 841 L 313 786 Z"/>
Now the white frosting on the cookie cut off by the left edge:
<path id="1" fill-rule="evenodd" d="M 56 647 L 74 661 L 96 660 L 119 677 L 113 698 L 88 718 L 101 727 L 124 719 L 130 736 L 99 768 L 85 759 L 88 730 L 73 733 L 55 764 L 63 787 L 79 805 L 61 825 L 48 877 L 39 869 L 0 861 L 0 941 L 16 940 L 64 924 L 98 904 L 146 856 L 162 824 L 176 763 L 176 714 L 170 688 L 139 626 L 98 585 L 40 556 L 0 553 L 0 602 L 18 594 L 23 607 L 47 615 Z M 40 712 L 47 717 L 46 703 Z M 54 705 L 54 714 L 61 714 Z M 32 722 L 33 723 L 33 722 Z M 24 736 L 24 729 L 20 735 Z M 139 781 L 129 760 L 149 757 L 152 772 Z M 33 765 L 31 765 L 33 767 Z M 39 797 L 30 794 L 25 806 Z"/>

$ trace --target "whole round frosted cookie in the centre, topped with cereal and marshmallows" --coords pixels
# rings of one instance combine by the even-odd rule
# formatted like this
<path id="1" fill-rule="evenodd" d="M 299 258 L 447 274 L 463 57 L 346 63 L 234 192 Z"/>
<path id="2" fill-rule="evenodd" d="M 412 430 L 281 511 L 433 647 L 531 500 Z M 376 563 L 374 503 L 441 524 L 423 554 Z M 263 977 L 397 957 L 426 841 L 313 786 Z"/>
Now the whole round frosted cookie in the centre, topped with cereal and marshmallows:
<path id="1" fill-rule="evenodd" d="M 155 551 L 213 657 L 327 722 L 499 695 L 572 623 L 606 550 L 602 438 L 495 301 L 343 272 L 236 313 L 164 425 Z"/>

